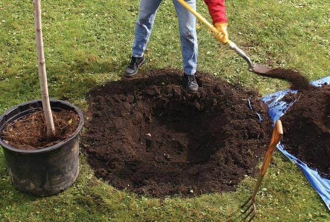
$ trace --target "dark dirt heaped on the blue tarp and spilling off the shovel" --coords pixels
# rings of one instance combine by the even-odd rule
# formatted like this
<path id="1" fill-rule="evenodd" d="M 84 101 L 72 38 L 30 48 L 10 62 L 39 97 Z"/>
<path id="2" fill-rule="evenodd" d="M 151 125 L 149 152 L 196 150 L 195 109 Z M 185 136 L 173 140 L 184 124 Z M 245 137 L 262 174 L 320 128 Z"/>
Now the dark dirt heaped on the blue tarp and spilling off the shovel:
<path id="1" fill-rule="evenodd" d="M 288 80 L 298 90 L 282 99 L 288 103 L 297 100 L 282 117 L 286 149 L 330 179 L 330 86 L 306 85 L 308 80 L 291 70 L 277 69 L 266 75 Z"/>

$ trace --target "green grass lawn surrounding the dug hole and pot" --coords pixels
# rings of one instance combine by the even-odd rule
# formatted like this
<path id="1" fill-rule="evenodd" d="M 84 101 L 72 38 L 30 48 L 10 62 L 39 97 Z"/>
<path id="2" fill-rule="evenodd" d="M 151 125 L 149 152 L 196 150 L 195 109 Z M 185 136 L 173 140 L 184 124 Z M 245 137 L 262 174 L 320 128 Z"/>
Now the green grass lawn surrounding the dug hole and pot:
<path id="1" fill-rule="evenodd" d="M 43 34 L 53 98 L 87 108 L 85 95 L 106 81 L 119 79 L 129 61 L 136 0 L 44 0 Z M 198 11 L 209 18 L 198 0 Z M 229 33 L 255 62 L 296 69 L 309 80 L 329 75 L 329 0 L 228 0 Z M 32 2 L 0 1 L 0 113 L 39 98 Z M 198 28 L 198 70 L 228 82 L 254 87 L 260 94 L 285 89 L 288 83 L 247 71 L 245 62 Z M 143 70 L 181 69 L 177 20 L 172 1 L 164 0 L 146 52 Z M 85 157 L 81 173 L 65 192 L 33 198 L 16 191 L 0 151 L 0 221 L 188 222 L 233 221 L 251 193 L 255 178 L 235 192 L 196 198 L 137 197 L 97 180 Z M 258 193 L 256 222 L 328 222 L 330 213 L 301 171 L 275 153 Z"/>

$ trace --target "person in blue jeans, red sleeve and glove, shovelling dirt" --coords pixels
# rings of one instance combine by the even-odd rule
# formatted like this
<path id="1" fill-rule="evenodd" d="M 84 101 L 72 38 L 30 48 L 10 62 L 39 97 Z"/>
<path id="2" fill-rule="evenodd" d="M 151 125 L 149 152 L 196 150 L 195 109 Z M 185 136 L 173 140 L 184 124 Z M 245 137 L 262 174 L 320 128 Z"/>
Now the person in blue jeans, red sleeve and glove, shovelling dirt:
<path id="1" fill-rule="evenodd" d="M 152 31 L 157 9 L 162 0 L 140 0 L 139 14 L 135 25 L 134 41 L 132 44 L 132 58 L 125 70 L 126 77 L 137 74 L 144 64 L 144 51 L 147 47 Z M 181 54 L 183 63 L 183 80 L 190 93 L 198 91 L 195 73 L 197 68 L 197 34 L 196 17 L 184 8 L 177 0 L 172 0 L 179 23 Z M 185 0 L 196 10 L 196 0 Z M 228 40 L 227 17 L 224 0 L 204 0 L 212 18 L 213 25 L 219 31 L 215 37 L 222 43 Z"/>

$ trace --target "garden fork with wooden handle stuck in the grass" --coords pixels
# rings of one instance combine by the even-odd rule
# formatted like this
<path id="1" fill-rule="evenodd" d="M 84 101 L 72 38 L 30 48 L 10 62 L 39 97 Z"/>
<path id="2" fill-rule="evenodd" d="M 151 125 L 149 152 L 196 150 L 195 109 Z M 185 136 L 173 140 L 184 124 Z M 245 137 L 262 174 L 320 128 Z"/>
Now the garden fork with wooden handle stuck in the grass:
<path id="1" fill-rule="evenodd" d="M 249 199 L 241 206 L 241 209 L 243 209 L 242 214 L 246 214 L 243 218 L 243 222 L 251 222 L 253 218 L 256 216 L 257 210 L 256 210 L 256 195 L 260 188 L 261 182 L 264 178 L 264 175 L 267 171 L 269 162 L 271 160 L 271 156 L 273 154 L 274 148 L 276 145 L 280 142 L 281 138 L 283 136 L 283 127 L 281 120 L 277 120 L 275 123 L 275 127 L 273 129 L 273 133 L 271 135 L 270 144 L 268 146 L 268 150 L 266 152 L 266 155 L 264 157 L 263 165 L 260 168 L 260 174 L 258 177 L 258 181 L 254 187 L 252 195 L 249 197 Z M 251 215 L 251 216 L 250 216 Z M 249 218 L 250 216 L 250 218 Z M 248 219 L 249 218 L 249 219 Z M 248 220 L 247 220 L 248 219 Z"/>

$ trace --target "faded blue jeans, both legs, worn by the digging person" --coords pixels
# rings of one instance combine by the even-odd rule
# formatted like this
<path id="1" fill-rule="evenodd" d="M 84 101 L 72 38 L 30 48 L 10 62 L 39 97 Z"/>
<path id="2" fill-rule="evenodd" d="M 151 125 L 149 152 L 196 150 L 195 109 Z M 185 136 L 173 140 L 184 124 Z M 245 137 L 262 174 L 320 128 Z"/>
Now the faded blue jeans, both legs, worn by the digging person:
<path id="1" fill-rule="evenodd" d="M 139 15 L 135 25 L 132 56 L 142 57 L 147 47 L 157 9 L 162 0 L 140 0 Z M 176 0 L 172 0 L 179 22 L 183 72 L 195 74 L 197 67 L 196 17 Z M 196 0 L 185 0 L 196 9 Z M 166 29 L 166 27 L 164 27 Z"/>

